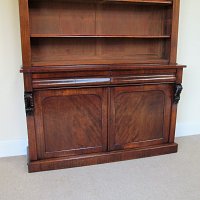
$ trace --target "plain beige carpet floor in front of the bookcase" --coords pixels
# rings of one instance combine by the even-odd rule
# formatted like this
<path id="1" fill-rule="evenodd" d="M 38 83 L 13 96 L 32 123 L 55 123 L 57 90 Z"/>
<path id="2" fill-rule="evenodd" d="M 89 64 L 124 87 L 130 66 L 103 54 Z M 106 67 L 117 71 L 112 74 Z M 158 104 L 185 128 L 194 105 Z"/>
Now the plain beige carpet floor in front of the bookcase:
<path id="1" fill-rule="evenodd" d="M 200 135 L 177 154 L 28 174 L 26 158 L 0 159 L 0 200 L 200 200 Z"/>

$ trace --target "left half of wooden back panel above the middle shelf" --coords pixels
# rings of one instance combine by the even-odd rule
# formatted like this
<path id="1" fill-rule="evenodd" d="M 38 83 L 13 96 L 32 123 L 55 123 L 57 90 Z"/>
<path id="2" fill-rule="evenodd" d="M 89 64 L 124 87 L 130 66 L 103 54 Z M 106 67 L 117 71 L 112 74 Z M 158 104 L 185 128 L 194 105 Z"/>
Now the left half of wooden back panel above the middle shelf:
<path id="1" fill-rule="evenodd" d="M 30 22 L 36 34 L 95 34 L 95 4 L 33 2 Z"/>

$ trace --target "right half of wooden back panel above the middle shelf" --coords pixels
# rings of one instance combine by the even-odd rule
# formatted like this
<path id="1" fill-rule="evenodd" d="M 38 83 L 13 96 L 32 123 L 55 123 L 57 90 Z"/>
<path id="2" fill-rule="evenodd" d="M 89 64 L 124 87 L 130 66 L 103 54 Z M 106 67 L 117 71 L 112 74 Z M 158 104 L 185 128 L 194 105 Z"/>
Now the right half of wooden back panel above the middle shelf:
<path id="1" fill-rule="evenodd" d="M 131 4 L 105 4 L 96 15 L 96 32 L 102 35 L 168 35 L 167 8 Z"/>

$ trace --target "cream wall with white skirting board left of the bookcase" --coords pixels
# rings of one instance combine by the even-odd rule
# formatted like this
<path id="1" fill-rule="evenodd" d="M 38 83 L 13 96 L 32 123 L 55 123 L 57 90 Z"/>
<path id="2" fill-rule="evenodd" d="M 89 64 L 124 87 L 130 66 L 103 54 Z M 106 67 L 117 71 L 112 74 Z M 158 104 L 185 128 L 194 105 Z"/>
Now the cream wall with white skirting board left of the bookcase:
<path id="1" fill-rule="evenodd" d="M 0 156 L 25 153 L 18 0 L 0 0 Z"/>

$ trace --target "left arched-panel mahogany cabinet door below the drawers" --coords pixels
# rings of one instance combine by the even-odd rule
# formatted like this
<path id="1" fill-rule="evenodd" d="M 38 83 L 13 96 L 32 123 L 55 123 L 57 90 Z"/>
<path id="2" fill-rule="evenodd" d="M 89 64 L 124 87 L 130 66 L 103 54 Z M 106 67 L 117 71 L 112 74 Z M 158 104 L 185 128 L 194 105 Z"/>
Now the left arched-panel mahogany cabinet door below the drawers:
<path id="1" fill-rule="evenodd" d="M 107 150 L 107 89 L 35 91 L 38 158 Z"/>

